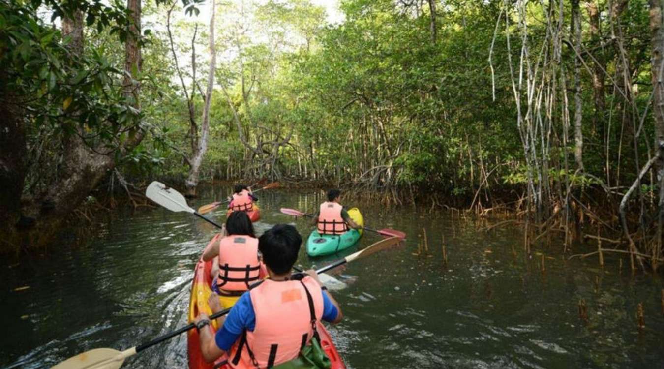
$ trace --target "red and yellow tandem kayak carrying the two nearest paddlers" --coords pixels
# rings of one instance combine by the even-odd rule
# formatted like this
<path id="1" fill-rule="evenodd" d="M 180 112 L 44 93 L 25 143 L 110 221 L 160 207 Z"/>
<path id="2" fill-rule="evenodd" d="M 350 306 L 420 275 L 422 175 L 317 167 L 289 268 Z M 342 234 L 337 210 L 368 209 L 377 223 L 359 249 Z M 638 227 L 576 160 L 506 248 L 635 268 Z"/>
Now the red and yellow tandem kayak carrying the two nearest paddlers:
<path id="1" fill-rule="evenodd" d="M 211 247 L 213 244 L 214 242 L 210 242 L 208 247 Z M 213 261 L 214 259 L 210 261 L 199 259 L 199 262 L 194 269 L 194 281 L 191 285 L 191 297 L 189 299 L 189 323 L 193 322 L 195 317 L 201 312 L 206 313 L 207 315 L 212 315 L 207 300 L 212 293 L 212 289 L 210 288 L 210 285 L 212 285 L 210 269 L 212 268 Z M 204 329 L 214 329 L 214 331 L 218 329 L 216 321 L 212 323 L 212 326 L 213 327 L 205 327 Z M 341 356 L 339 356 L 339 352 L 337 352 L 337 348 L 335 347 L 334 342 L 332 342 L 329 332 L 327 332 L 325 326 L 320 322 L 318 322 L 318 334 L 321 337 L 321 347 L 325 350 L 325 353 L 327 353 L 327 356 L 332 362 L 331 369 L 345 369 L 346 366 L 343 364 L 343 360 L 341 360 Z M 221 365 L 219 368 L 231 369 L 230 365 L 222 364 L 222 362 L 227 359 L 226 356 L 222 356 L 222 358 L 219 358 L 214 363 L 207 363 L 203 360 L 201 348 L 199 347 L 199 332 L 195 329 L 191 329 L 187 335 L 187 354 L 189 354 L 189 369 L 212 369 L 217 364 Z"/>

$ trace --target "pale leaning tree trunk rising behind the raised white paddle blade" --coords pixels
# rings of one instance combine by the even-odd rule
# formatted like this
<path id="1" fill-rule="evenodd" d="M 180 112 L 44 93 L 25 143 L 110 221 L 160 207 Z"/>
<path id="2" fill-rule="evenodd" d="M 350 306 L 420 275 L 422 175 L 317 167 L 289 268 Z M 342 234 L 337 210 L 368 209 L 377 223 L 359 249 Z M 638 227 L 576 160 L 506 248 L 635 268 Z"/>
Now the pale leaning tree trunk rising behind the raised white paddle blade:
<path id="1" fill-rule="evenodd" d="M 215 5 L 212 1 L 212 11 L 210 12 L 210 70 L 208 71 L 207 91 L 205 92 L 205 105 L 203 106 L 203 117 L 201 117 L 201 135 L 198 145 L 192 153 L 193 157 L 189 160 L 189 176 L 185 181 L 187 186 L 187 195 L 196 196 L 196 186 L 199 184 L 199 173 L 205 151 L 207 151 L 208 133 L 210 131 L 210 103 L 212 102 L 212 91 L 214 90 L 214 71 L 216 70 L 216 50 L 214 47 L 214 15 Z"/>

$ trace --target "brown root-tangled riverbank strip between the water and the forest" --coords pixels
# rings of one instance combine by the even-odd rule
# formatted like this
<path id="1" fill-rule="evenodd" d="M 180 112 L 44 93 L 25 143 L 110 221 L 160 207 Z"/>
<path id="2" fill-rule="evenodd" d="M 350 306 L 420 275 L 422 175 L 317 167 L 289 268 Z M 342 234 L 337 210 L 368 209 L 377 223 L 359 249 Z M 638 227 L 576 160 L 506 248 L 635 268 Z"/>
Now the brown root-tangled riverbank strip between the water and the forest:
<path id="1" fill-rule="evenodd" d="M 167 179 L 169 186 L 184 191 L 184 181 Z M 199 184 L 201 196 L 211 196 L 214 200 L 226 198 L 232 193 L 232 186 L 236 183 L 254 185 L 260 188 L 270 181 L 242 179 L 236 181 L 215 180 L 204 181 Z M 127 208 L 129 211 L 139 208 L 154 207 L 151 201 L 145 198 L 143 188 L 147 181 L 135 181 L 113 183 L 107 182 L 90 193 L 87 200 L 66 220 L 62 232 L 57 237 L 72 237 L 72 229 L 76 224 L 98 224 L 106 218 L 106 214 L 113 212 L 116 208 Z M 284 190 L 317 191 L 325 193 L 325 189 L 336 187 L 339 183 L 329 181 L 313 181 L 301 179 L 284 179 L 279 181 L 279 188 Z M 561 254 L 571 256 L 578 254 L 574 244 L 584 242 L 597 245 L 596 254 L 587 255 L 598 259 L 598 264 L 603 263 L 604 254 L 620 253 L 629 256 L 626 267 L 641 269 L 642 271 L 656 270 L 657 266 L 664 261 L 661 256 L 653 254 L 651 238 L 636 232 L 631 234 L 635 242 L 635 248 L 629 248 L 629 242 L 624 236 L 622 226 L 618 218 L 619 194 L 613 197 L 606 196 L 601 188 L 586 188 L 570 199 L 570 212 L 568 218 L 564 217 L 560 203 L 554 204 L 552 209 L 542 210 L 538 215 L 529 210 L 527 199 L 523 190 L 519 192 L 518 187 L 501 188 L 489 191 L 486 188 L 478 188 L 472 197 L 447 194 L 428 190 L 417 190 L 416 188 L 371 188 L 365 185 L 352 183 L 341 183 L 340 188 L 344 191 L 345 203 L 349 202 L 375 202 L 389 208 L 391 211 L 400 212 L 404 208 L 420 208 L 423 214 L 441 214 L 450 212 L 463 218 L 474 220 L 499 221 L 497 224 L 487 226 L 487 230 L 496 227 L 509 226 L 511 229 L 519 229 L 522 232 L 521 246 L 527 252 L 550 246 L 552 235 L 562 237 L 563 244 L 560 247 Z M 263 192 L 265 193 L 265 192 Z M 262 194 L 259 195 L 263 196 Z M 578 196 L 578 197 L 577 197 Z M 193 199 L 192 201 L 197 201 Z M 629 226 L 638 224 L 637 216 L 628 218 Z M 77 234 L 73 237 L 84 241 L 89 234 Z M 50 240 L 42 241 L 41 245 L 25 246 L 26 252 L 41 252 L 48 247 Z M 21 248 L 5 248 L 5 254 L 18 254 Z M 587 254 L 587 253 L 586 253 Z M 601 256 L 600 256 L 601 254 Z"/>

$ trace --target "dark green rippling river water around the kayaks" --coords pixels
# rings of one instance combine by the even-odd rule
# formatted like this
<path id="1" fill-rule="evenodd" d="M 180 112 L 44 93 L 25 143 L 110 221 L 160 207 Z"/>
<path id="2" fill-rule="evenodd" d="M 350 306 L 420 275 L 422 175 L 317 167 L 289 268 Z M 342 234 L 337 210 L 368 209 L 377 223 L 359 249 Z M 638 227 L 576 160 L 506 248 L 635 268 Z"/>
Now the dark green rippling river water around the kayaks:
<path id="1" fill-rule="evenodd" d="M 213 199 L 208 189 L 192 205 Z M 321 192 L 266 191 L 256 229 L 293 223 L 280 207 L 311 211 L 321 200 Z M 339 275 L 349 283 L 335 292 L 345 320 L 330 331 L 349 368 L 664 366 L 663 283 L 632 276 L 627 259 L 622 272 L 616 256 L 607 256 L 603 269 L 596 258 L 566 260 L 556 240 L 527 258 L 521 232 L 509 226 L 485 232 L 454 212 L 346 205 L 359 206 L 367 226 L 408 233 L 404 247 L 355 261 Z M 220 212 L 212 216 L 224 220 Z M 294 224 L 306 238 L 308 222 Z M 92 348 L 122 350 L 187 324 L 193 267 L 214 228 L 162 208 L 114 214 L 96 228 L 82 246 L 62 240 L 41 256 L 0 261 L 0 367 L 43 368 Z M 413 255 L 422 228 L 430 257 Z M 359 248 L 379 239 L 367 233 Z M 310 259 L 302 248 L 299 263 L 331 259 Z M 588 323 L 579 317 L 580 299 Z M 186 343 L 182 334 L 124 367 L 186 368 Z"/>

